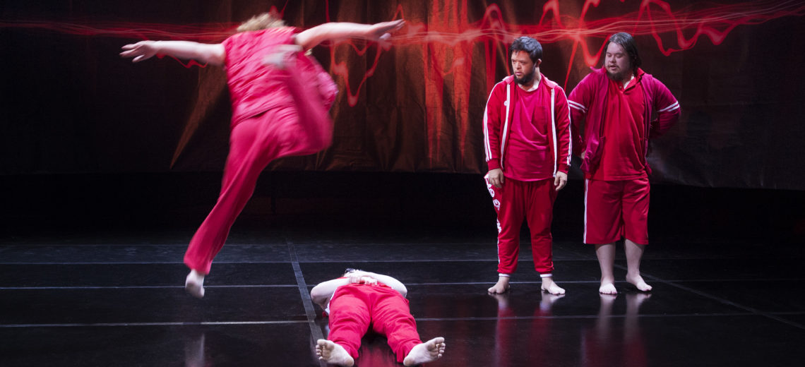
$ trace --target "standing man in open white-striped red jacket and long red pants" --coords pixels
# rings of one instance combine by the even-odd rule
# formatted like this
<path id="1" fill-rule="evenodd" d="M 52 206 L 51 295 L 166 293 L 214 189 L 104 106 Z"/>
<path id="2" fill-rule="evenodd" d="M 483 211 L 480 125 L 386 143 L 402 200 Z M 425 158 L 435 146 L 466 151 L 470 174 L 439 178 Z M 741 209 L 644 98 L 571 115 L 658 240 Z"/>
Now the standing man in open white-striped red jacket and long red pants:
<path id="1" fill-rule="evenodd" d="M 568 182 L 570 113 L 564 90 L 539 72 L 543 47 L 520 37 L 510 47 L 513 76 L 497 83 L 486 102 L 486 187 L 497 211 L 497 283 L 489 293 L 509 290 L 517 270 L 520 228 L 531 232 L 534 268 L 543 291 L 564 294 L 553 281 L 551 220 L 556 192 Z"/>

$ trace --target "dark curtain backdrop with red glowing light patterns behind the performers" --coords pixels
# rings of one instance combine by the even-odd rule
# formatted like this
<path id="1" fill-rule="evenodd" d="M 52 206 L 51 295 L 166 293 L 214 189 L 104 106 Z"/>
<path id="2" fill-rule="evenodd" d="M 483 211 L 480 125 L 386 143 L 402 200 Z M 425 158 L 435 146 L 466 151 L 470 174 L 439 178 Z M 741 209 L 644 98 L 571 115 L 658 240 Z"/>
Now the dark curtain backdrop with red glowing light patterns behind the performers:
<path id="1" fill-rule="evenodd" d="M 404 18 L 390 45 L 316 47 L 341 93 L 332 146 L 269 170 L 481 174 L 489 90 L 517 35 L 570 90 L 605 37 L 636 35 L 643 68 L 682 105 L 652 142 L 654 182 L 805 189 L 802 2 L 46 1 L 0 4 L 0 175 L 218 171 L 229 135 L 220 68 L 131 64 L 138 39 L 220 42 L 274 6 L 287 23 Z"/>

